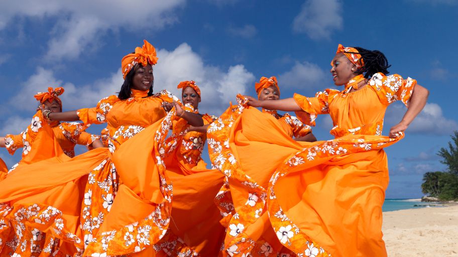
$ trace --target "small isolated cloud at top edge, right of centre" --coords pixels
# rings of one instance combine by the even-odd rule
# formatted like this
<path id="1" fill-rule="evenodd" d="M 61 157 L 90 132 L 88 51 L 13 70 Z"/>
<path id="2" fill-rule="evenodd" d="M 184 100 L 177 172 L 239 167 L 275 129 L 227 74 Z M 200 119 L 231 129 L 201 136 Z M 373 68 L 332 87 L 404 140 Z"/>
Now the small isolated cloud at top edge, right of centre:
<path id="1" fill-rule="evenodd" d="M 307 0 L 294 18 L 293 31 L 306 33 L 311 39 L 329 39 L 342 28 L 342 4 L 339 0 Z"/>

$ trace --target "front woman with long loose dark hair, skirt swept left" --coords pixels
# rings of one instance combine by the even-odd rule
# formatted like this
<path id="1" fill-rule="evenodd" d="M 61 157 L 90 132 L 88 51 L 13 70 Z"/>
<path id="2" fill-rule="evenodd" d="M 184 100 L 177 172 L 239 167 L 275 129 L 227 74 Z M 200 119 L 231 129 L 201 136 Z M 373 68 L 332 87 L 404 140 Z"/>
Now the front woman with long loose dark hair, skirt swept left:
<path id="1" fill-rule="evenodd" d="M 176 102 L 178 99 L 167 91 L 152 93 L 152 65 L 156 64 L 158 58 L 154 47 L 147 41 L 144 43 L 143 48 L 136 48 L 135 53 L 122 60 L 125 82 L 118 96 L 102 99 L 95 108 L 63 113 L 46 112 L 44 116 L 49 120 L 82 120 L 85 124 L 106 122 L 102 140 L 110 151 L 117 151 L 129 138 L 145 130 L 143 134 L 147 134 L 151 147 L 155 149 L 148 152 L 150 156 L 152 152 L 155 156 L 155 160 L 147 164 L 152 167 L 141 170 L 131 167 L 117 173 L 111 161 L 113 156 L 106 148 L 94 149 L 69 161 L 50 159 L 18 167 L 20 172 L 17 169 L 17 172 L 0 182 L 0 203 L 3 203 L 0 205 L 0 212 L 7 222 L 6 226 L 2 226 L 2 231 L 5 232 L 0 233 L 0 239 L 12 242 L 2 248 L 2 254 L 23 254 L 25 251 L 39 250 L 44 254 L 60 252 L 81 255 L 89 243 L 101 242 L 105 245 L 107 241 L 100 238 L 98 230 L 103 228 L 103 221 L 111 219 L 108 215 L 110 209 L 118 208 L 111 206 L 115 195 L 121 197 L 118 201 L 121 204 L 123 199 L 130 196 L 134 200 L 140 198 L 135 192 L 134 195 L 131 194 L 137 189 L 139 180 L 150 181 L 155 186 L 154 190 L 142 195 L 149 197 L 148 206 L 153 209 L 148 213 L 151 214 L 149 219 L 145 219 L 148 214 L 142 217 L 142 222 L 147 222 L 151 234 L 145 235 L 148 241 L 130 243 L 126 251 L 139 251 L 139 244 L 154 243 L 161 238 L 162 230 L 168 226 L 166 220 L 170 212 L 171 190 L 170 183 L 164 176 L 165 168 L 158 147 L 163 143 L 175 117 L 181 117 L 184 123 L 189 121 L 194 126 L 201 126 L 203 122 L 199 115 L 185 112 Z M 176 107 L 176 111 L 173 107 Z M 164 109 L 169 111 L 168 116 Z M 119 159 L 122 162 L 122 156 Z M 119 180 L 123 183 L 117 190 Z M 34 211 L 25 215 L 21 212 L 22 208 L 31 208 Z M 157 215 L 161 217 L 160 222 Z M 128 218 L 129 216 L 114 219 L 122 222 Z M 153 222 L 153 218 L 157 223 Z M 15 225 L 18 223 L 19 226 Z M 105 222 L 103 225 L 106 223 L 117 224 Z M 28 240 L 22 235 L 29 227 L 40 229 L 45 234 L 34 237 L 36 240 Z M 7 230 L 21 236 L 13 238 L 15 233 Z M 41 243 L 42 240 L 46 242 Z M 32 248 L 34 251 L 29 250 Z"/>

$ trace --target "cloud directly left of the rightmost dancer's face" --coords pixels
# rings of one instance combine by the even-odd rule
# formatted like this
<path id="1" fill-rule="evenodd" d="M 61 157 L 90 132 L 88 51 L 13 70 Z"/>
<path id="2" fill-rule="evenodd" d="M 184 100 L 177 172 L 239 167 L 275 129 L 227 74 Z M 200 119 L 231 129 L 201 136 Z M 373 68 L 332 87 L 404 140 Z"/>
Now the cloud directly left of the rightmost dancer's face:
<path id="1" fill-rule="evenodd" d="M 296 62 L 290 71 L 278 76 L 280 87 L 295 89 L 311 88 L 322 90 L 322 82 L 325 80 L 325 71 L 319 68 L 318 65 L 309 62 Z"/>

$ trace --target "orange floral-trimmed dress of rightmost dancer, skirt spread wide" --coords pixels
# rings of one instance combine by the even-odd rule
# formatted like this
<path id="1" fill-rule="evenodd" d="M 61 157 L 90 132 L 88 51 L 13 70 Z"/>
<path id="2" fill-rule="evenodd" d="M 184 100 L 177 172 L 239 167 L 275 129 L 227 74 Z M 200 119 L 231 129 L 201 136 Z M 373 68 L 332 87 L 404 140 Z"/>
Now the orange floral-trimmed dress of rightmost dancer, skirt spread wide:
<path id="1" fill-rule="evenodd" d="M 403 137 L 381 136 L 387 106 L 406 105 L 416 84 L 375 74 L 359 91 L 295 95 L 312 125 L 330 114 L 334 140 L 294 142 L 255 108 L 231 106 L 208 140 L 214 166 L 226 175 L 234 206 L 226 211 L 225 254 L 243 256 L 386 256 L 382 204 L 388 185 L 383 148 Z M 228 204 L 229 205 L 229 204 Z"/>

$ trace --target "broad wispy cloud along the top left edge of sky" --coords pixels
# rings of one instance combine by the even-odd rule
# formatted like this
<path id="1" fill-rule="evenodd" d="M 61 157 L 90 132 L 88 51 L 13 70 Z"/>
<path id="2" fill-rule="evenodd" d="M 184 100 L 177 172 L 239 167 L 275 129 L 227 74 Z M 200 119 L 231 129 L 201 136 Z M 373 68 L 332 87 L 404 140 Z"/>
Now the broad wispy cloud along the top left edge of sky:
<path id="1" fill-rule="evenodd" d="M 158 30 L 177 22 L 173 11 L 185 0 L 135 2 L 113 1 L 13 1 L 0 9 L 0 30 L 15 17 L 56 18 L 48 42 L 48 59 L 73 59 L 88 48 L 95 47 L 100 35 L 108 30 Z"/>

